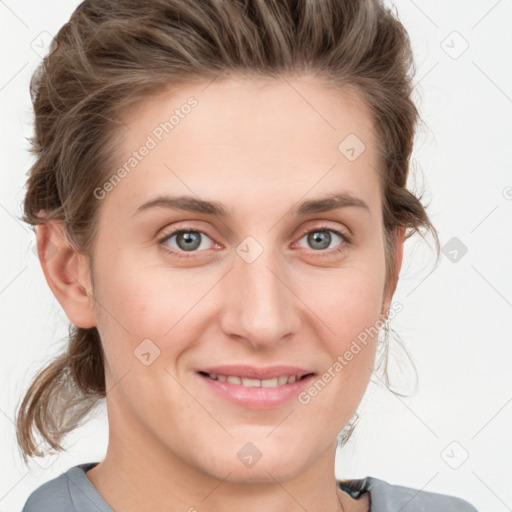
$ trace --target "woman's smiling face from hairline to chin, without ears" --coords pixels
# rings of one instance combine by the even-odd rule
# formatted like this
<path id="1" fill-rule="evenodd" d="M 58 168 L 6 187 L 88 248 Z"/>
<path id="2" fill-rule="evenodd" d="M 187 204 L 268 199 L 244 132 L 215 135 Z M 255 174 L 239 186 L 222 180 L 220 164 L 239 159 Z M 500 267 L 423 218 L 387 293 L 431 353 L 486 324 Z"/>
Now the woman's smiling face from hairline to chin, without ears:
<path id="1" fill-rule="evenodd" d="M 332 467 L 389 306 L 369 112 L 306 78 L 229 78 L 124 121 L 96 191 L 111 444 L 230 481 Z"/>

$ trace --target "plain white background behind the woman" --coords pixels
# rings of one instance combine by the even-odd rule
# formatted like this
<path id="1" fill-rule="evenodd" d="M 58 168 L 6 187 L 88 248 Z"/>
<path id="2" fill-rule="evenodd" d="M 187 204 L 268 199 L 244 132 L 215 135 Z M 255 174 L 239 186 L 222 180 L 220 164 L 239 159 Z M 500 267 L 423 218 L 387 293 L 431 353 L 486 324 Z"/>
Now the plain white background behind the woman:
<path id="1" fill-rule="evenodd" d="M 103 408 L 68 437 L 66 452 L 28 468 L 13 423 L 31 377 L 67 334 L 34 235 L 19 218 L 32 163 L 26 137 L 36 44 L 42 32 L 55 35 L 77 5 L 0 1 L 0 512 L 21 510 L 43 482 L 101 460 L 106 450 Z M 395 295 L 404 310 L 391 325 L 418 369 L 418 390 L 397 398 L 370 384 L 336 474 L 460 496 L 480 511 L 512 510 L 512 1 L 395 5 L 413 43 L 415 100 L 425 123 L 411 186 L 426 190 L 442 245 L 457 237 L 468 252 L 456 262 L 443 254 L 435 267 L 424 243 L 406 243 Z M 458 55 L 464 40 L 469 47 Z M 412 391 L 411 379 L 409 387 L 400 375 L 394 382 Z"/>

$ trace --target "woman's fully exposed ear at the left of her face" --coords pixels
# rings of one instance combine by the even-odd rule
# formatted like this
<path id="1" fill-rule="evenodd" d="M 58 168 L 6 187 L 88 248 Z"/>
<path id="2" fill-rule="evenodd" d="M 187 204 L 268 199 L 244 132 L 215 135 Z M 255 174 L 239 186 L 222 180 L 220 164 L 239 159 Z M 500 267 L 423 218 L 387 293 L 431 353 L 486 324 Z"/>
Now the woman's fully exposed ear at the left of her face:
<path id="1" fill-rule="evenodd" d="M 77 327 L 95 327 L 89 259 L 69 243 L 62 221 L 38 225 L 36 237 L 46 282 L 69 321 Z"/>

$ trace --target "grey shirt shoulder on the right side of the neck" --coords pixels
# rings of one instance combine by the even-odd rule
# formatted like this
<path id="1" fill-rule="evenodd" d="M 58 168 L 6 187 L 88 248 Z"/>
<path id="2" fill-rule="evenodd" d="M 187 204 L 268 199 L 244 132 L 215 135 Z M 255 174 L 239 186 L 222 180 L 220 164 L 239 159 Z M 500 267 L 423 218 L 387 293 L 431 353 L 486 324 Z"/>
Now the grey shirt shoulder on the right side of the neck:
<path id="1" fill-rule="evenodd" d="M 370 492 L 371 512 L 478 512 L 462 498 L 394 485 L 371 476 L 365 479 L 365 490 Z"/>

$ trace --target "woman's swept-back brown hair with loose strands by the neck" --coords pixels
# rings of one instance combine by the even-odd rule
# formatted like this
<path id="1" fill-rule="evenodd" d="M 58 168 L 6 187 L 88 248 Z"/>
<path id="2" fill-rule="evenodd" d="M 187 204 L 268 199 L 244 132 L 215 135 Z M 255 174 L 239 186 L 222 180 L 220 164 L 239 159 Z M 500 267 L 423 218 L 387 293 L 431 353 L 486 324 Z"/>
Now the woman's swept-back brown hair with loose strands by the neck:
<path id="1" fill-rule="evenodd" d="M 419 118 L 410 41 L 379 0 L 82 2 L 31 80 L 36 161 L 23 220 L 32 226 L 62 221 L 73 247 L 92 260 L 100 205 L 94 190 L 118 163 L 121 115 L 157 91 L 220 74 L 307 74 L 340 94 L 356 90 L 371 113 L 381 157 L 386 290 L 396 275 L 398 228 L 406 228 L 406 238 L 430 231 L 439 257 L 421 197 L 407 190 Z M 24 460 L 44 455 L 34 429 L 62 450 L 63 436 L 105 396 L 99 333 L 70 325 L 67 350 L 35 376 L 19 406 Z M 355 426 L 349 423 L 342 444 Z"/>

